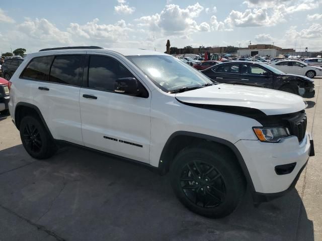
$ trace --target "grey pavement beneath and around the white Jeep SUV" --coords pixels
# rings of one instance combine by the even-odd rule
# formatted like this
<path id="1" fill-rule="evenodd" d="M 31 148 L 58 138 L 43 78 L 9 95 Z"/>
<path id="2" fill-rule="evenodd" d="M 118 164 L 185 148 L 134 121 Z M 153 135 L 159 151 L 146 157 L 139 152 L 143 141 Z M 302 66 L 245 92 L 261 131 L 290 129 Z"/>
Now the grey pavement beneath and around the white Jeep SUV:
<path id="1" fill-rule="evenodd" d="M 315 157 L 296 189 L 254 207 L 250 192 L 222 219 L 187 210 L 169 175 L 65 147 L 39 161 L 0 115 L 0 241 L 7 240 L 322 240 L 322 78 L 307 99 Z"/>

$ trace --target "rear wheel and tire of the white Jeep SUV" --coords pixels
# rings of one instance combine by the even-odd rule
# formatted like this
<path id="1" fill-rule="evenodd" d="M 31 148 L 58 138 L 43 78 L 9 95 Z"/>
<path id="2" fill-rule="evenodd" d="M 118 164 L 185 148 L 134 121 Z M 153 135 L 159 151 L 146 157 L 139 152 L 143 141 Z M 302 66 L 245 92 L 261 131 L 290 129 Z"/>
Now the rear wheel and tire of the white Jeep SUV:
<path id="1" fill-rule="evenodd" d="M 33 158 L 46 159 L 56 152 L 56 145 L 36 116 L 23 117 L 19 131 L 24 148 Z"/>

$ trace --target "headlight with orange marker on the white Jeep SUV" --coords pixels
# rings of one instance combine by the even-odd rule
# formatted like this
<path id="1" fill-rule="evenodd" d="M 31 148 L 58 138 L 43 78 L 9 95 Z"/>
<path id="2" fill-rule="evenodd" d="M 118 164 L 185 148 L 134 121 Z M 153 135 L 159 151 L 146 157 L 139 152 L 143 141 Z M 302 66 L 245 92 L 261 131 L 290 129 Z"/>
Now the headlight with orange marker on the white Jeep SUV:
<path id="1" fill-rule="evenodd" d="M 253 130 L 261 142 L 279 142 L 290 136 L 289 130 L 283 127 L 253 127 Z"/>

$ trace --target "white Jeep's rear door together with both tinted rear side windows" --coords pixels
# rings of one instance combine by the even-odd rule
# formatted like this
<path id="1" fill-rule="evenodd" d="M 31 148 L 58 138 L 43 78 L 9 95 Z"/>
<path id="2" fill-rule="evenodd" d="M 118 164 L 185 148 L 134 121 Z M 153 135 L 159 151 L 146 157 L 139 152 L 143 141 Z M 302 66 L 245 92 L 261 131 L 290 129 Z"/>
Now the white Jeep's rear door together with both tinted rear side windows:
<path id="1" fill-rule="evenodd" d="M 79 108 L 85 55 L 34 58 L 22 73 L 54 139 L 84 145 Z"/>

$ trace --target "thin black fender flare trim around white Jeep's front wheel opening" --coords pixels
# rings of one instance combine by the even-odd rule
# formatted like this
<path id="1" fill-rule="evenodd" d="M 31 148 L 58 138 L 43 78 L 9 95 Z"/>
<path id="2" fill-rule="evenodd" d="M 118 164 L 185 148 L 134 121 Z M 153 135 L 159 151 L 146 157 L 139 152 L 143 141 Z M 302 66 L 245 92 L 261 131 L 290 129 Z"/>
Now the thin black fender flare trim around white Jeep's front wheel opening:
<path id="1" fill-rule="evenodd" d="M 215 143 L 219 143 L 221 145 L 224 145 L 226 146 L 227 148 L 229 148 L 236 156 L 237 158 L 237 161 L 238 161 L 238 164 L 241 168 L 241 171 L 243 171 L 244 175 L 245 175 L 245 178 L 247 180 L 247 184 L 250 186 L 251 188 L 251 191 L 252 192 L 255 192 L 255 187 L 254 187 L 254 184 L 253 184 L 253 180 L 251 178 L 251 175 L 248 171 L 248 168 L 246 166 L 246 163 L 245 163 L 245 160 L 243 158 L 243 156 L 241 156 L 239 150 L 236 148 L 236 146 L 227 141 L 227 140 L 224 140 L 224 139 L 221 139 L 221 138 L 218 138 L 218 137 L 213 137 L 213 136 L 209 136 L 209 135 L 205 135 L 205 134 L 200 134 L 200 133 L 194 133 L 194 132 L 187 132 L 187 131 L 178 131 L 178 132 L 175 132 L 173 133 L 167 140 L 163 150 L 162 150 L 162 153 L 161 153 L 161 156 L 160 156 L 160 159 L 159 159 L 159 165 L 158 165 L 158 168 L 159 170 L 162 170 L 162 172 L 165 172 L 166 169 L 169 167 L 169 164 L 171 162 L 171 160 L 169 160 L 167 158 L 167 154 L 168 154 L 168 150 L 169 148 L 171 148 L 171 142 L 172 140 L 177 137 L 177 136 L 189 136 L 189 137 L 195 137 L 195 138 L 199 138 L 199 139 L 204 139 L 204 140 L 207 140 L 207 141 L 213 141 Z"/>

